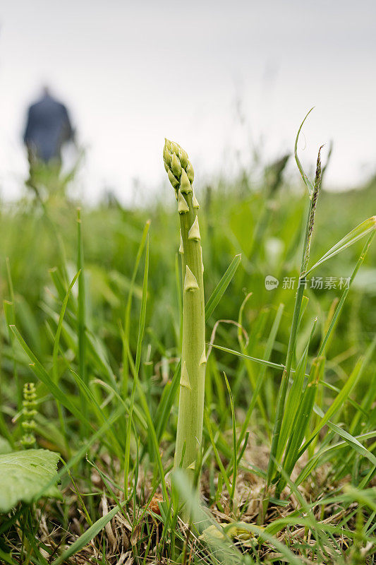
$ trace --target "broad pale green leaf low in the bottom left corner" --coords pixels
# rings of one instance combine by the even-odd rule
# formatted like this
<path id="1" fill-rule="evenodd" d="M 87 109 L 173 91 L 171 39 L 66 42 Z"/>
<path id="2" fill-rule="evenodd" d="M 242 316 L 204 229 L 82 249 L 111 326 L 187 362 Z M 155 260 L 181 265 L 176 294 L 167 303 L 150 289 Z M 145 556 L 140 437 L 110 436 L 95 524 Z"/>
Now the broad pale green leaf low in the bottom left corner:
<path id="1" fill-rule="evenodd" d="M 0 512 L 20 501 L 30 504 L 57 472 L 59 453 L 48 449 L 25 449 L 0 455 Z M 56 487 L 46 496 L 60 496 Z"/>

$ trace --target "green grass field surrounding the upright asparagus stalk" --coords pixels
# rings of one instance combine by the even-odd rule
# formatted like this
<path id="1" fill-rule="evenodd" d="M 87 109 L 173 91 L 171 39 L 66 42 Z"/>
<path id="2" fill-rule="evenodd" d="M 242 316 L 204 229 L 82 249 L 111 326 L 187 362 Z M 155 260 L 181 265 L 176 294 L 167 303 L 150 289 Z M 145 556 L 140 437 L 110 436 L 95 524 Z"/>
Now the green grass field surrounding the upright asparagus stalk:
<path id="1" fill-rule="evenodd" d="M 78 210 L 60 192 L 1 206 L 1 563 L 375 563 L 375 224 L 308 273 L 293 321 L 309 198 L 283 167 L 195 189 L 207 362 L 193 482 L 174 471 L 174 190 L 132 209 Z M 376 213 L 375 182 L 326 188 L 309 267 Z M 6 507 L 25 429 L 59 473 Z"/>

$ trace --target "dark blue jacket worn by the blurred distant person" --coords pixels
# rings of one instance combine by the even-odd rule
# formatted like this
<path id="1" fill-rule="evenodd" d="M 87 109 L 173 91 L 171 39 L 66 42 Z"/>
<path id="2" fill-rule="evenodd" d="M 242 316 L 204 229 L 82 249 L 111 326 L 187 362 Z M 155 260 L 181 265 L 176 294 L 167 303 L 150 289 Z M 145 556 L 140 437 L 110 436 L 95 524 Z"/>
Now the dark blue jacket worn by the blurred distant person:
<path id="1" fill-rule="evenodd" d="M 42 161 L 60 159 L 61 145 L 73 138 L 66 107 L 46 94 L 30 106 L 23 141 Z"/>

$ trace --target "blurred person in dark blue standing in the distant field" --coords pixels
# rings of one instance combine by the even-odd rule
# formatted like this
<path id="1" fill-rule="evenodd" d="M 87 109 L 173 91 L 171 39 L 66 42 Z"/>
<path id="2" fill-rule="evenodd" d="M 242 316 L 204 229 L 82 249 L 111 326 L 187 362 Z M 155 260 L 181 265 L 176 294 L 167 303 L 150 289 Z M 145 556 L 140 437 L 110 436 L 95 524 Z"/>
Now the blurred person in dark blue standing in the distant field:
<path id="1" fill-rule="evenodd" d="M 51 96 L 44 87 L 40 100 L 28 109 L 28 120 L 23 136 L 28 149 L 30 178 L 28 185 L 35 187 L 37 177 L 58 177 L 61 168 L 61 148 L 64 143 L 74 141 L 66 106 Z"/>

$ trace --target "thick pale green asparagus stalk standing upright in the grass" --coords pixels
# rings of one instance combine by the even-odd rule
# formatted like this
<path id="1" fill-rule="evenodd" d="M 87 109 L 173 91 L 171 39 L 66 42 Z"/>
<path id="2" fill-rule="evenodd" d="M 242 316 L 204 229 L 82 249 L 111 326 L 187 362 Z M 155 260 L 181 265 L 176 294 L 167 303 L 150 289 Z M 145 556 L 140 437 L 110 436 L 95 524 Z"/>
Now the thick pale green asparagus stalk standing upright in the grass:
<path id="1" fill-rule="evenodd" d="M 193 192 L 193 167 L 177 143 L 166 139 L 164 168 L 175 189 L 180 220 L 183 270 L 183 343 L 176 433 L 175 467 L 188 470 L 191 481 L 198 465 L 205 395 L 205 302 L 198 225 L 198 201 Z"/>

